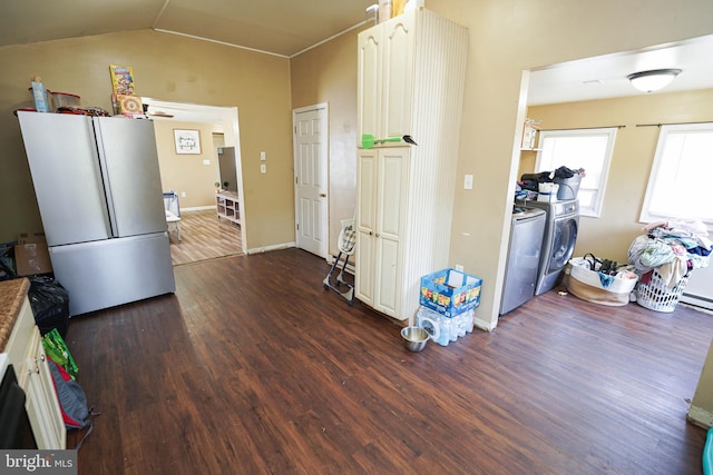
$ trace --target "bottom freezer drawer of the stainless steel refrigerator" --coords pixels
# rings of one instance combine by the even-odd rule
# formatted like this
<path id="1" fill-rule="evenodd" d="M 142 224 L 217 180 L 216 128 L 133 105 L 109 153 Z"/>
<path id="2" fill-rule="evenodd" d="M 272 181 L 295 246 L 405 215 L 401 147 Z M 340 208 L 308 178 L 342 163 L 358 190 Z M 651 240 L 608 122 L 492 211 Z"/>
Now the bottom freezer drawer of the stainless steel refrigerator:
<path id="1" fill-rule="evenodd" d="M 176 290 L 166 232 L 53 247 L 49 255 L 69 291 L 70 316 Z"/>

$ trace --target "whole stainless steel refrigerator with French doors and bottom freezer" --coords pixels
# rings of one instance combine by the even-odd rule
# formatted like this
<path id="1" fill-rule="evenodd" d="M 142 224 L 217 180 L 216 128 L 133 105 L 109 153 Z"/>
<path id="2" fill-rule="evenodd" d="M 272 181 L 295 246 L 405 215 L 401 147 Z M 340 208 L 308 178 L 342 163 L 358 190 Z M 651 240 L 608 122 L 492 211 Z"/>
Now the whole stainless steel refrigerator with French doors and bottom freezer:
<path id="1" fill-rule="evenodd" d="M 18 118 L 70 316 L 175 291 L 154 123 L 29 111 Z"/>

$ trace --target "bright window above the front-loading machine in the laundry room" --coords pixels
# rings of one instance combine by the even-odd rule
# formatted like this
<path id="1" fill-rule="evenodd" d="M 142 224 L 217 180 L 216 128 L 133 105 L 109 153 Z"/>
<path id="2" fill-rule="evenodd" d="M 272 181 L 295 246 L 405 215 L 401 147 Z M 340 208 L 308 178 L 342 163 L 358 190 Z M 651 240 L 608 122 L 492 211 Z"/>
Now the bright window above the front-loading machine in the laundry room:
<path id="1" fill-rule="evenodd" d="M 616 127 L 603 129 L 541 130 L 540 149 L 535 171 L 551 171 L 559 167 L 584 168 L 579 184 L 579 214 L 599 217 L 604 189 L 609 175 Z"/>

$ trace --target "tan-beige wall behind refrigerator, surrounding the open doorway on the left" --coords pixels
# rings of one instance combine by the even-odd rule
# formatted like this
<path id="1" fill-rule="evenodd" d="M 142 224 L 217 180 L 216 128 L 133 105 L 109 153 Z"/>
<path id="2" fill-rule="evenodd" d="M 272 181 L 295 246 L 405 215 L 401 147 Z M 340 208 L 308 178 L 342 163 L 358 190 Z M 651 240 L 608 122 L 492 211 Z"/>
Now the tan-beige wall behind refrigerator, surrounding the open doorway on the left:
<path id="1" fill-rule="evenodd" d="M 50 90 L 110 110 L 109 65 L 134 67 L 137 93 L 158 100 L 237 107 L 245 195 L 246 247 L 294 241 L 290 61 L 206 41 L 127 31 L 1 47 L 0 241 L 41 224 L 17 119 L 30 106 L 35 75 Z M 260 151 L 267 174 L 260 174 Z"/>

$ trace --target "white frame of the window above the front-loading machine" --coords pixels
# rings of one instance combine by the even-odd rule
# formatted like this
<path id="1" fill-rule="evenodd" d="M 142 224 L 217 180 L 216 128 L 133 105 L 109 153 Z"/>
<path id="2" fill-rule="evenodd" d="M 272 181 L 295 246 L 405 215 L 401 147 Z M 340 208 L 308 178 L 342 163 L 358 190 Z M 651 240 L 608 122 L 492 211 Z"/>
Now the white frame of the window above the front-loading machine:
<path id="1" fill-rule="evenodd" d="M 579 167 L 585 169 L 585 174 L 592 172 L 592 170 L 587 169 L 587 164 L 544 164 L 543 154 L 545 152 L 545 139 L 547 138 L 576 138 L 576 137 L 606 137 L 607 145 L 605 150 L 605 156 L 602 161 L 602 170 L 599 175 L 599 182 L 596 188 L 588 188 L 588 191 L 593 191 L 595 194 L 595 198 L 593 200 L 592 206 L 579 206 L 579 215 L 589 216 L 594 218 L 598 218 L 602 216 L 602 207 L 604 204 L 604 192 L 606 190 L 606 182 L 609 176 L 609 165 L 612 164 L 612 155 L 614 154 L 614 141 L 616 140 L 616 131 L 618 127 L 602 127 L 602 128 L 593 128 L 593 129 L 567 129 L 567 130 L 540 130 L 538 138 L 538 151 L 537 159 L 535 161 L 535 171 L 551 171 L 560 166 L 565 166 L 568 168 L 577 169 Z M 579 188 L 583 189 L 582 187 Z"/>

